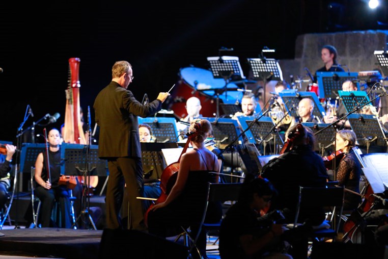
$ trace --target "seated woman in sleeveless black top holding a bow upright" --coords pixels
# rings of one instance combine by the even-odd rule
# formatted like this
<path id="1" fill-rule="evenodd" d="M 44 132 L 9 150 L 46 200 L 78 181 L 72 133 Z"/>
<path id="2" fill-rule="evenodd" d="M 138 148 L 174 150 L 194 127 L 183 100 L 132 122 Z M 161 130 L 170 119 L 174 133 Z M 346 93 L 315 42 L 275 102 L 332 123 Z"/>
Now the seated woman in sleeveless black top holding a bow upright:
<path id="1" fill-rule="evenodd" d="M 61 174 L 61 136 L 59 131 L 52 128 L 48 132 L 47 139 L 48 152 L 39 153 L 35 162 L 35 181 L 38 185 L 35 188 L 35 193 L 42 202 L 41 225 L 42 227 L 52 226 L 50 225 L 51 211 L 54 208 L 54 201 L 57 200 L 61 206 L 62 222 L 60 227 L 70 228 L 70 191 L 65 185 L 58 185 Z M 49 165 L 49 170 L 47 165 Z"/>

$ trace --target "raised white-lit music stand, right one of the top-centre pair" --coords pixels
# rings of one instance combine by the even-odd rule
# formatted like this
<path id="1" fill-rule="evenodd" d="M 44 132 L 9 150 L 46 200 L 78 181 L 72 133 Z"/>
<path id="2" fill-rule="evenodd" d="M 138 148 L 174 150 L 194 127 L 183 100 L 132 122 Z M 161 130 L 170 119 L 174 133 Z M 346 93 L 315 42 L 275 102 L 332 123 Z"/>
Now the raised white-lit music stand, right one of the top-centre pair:
<path id="1" fill-rule="evenodd" d="M 270 80 L 283 81 L 282 69 L 277 60 L 263 58 L 248 58 L 248 64 L 251 67 L 254 80 L 262 80 L 264 82 L 263 87 L 263 103 L 265 99 L 266 83 Z"/>

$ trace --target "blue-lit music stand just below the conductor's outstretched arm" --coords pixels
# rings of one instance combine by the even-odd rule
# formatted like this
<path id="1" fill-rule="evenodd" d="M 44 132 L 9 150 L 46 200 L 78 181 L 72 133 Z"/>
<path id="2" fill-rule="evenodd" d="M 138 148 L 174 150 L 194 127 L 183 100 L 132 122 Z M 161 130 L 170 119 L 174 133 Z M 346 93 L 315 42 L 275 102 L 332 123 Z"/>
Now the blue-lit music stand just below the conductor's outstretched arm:
<path id="1" fill-rule="evenodd" d="M 164 117 L 138 117 L 139 124 L 146 123 L 151 127 L 152 135 L 156 137 L 157 142 L 176 142 L 178 131 L 175 118 Z"/>

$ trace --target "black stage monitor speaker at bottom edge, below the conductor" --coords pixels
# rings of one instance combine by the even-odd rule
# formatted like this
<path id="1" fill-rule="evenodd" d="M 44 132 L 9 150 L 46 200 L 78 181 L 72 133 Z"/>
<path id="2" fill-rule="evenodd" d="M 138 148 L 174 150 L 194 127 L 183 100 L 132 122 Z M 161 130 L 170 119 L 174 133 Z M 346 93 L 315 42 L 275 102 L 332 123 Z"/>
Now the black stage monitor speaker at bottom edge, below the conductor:
<path id="1" fill-rule="evenodd" d="M 102 232 L 99 258 L 187 258 L 187 247 L 138 230 Z"/>

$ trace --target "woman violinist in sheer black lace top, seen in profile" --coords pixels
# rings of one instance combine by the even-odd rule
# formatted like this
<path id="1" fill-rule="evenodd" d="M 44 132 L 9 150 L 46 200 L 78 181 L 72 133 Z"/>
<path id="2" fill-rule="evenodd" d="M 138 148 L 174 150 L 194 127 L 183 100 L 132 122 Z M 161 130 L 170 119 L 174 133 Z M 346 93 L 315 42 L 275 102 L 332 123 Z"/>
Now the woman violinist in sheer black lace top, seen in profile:
<path id="1" fill-rule="evenodd" d="M 336 134 L 336 151 L 341 150 L 344 157 L 336 169 L 338 184 L 347 190 L 359 193 L 359 180 L 362 174 L 353 147 L 355 147 L 356 135 L 351 130 L 341 130 Z M 361 195 L 346 191 L 344 197 L 344 210 L 356 209 L 361 202 Z"/>

